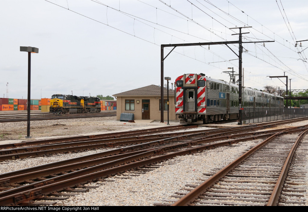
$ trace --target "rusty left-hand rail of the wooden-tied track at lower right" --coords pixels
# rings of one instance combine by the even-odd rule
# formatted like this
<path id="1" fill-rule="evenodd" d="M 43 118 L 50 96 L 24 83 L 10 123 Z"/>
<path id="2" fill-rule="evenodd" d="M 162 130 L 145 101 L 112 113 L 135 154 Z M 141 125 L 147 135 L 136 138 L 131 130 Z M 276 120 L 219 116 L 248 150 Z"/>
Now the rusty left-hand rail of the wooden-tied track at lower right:
<path id="1" fill-rule="evenodd" d="M 307 127 L 308 125 L 304 125 L 304 127 Z M 292 127 L 291 129 L 295 129 L 299 127 Z M 284 133 L 287 133 L 288 130 L 283 130 L 281 132 L 275 133 L 274 135 L 270 136 L 269 138 L 265 139 L 263 142 L 257 144 L 255 147 L 247 151 L 245 154 L 238 157 L 236 160 L 228 164 L 226 167 L 222 168 L 220 171 L 218 171 L 216 174 L 214 174 L 212 177 L 198 185 L 195 189 L 193 189 L 188 194 L 184 195 L 184 197 L 180 198 L 178 201 L 174 202 L 172 206 L 188 206 L 191 202 L 193 202 L 199 195 L 204 193 L 206 189 L 209 189 L 210 186 L 212 186 L 215 182 L 219 181 L 225 174 L 227 174 L 232 168 L 234 168 L 236 165 L 241 163 L 243 160 L 245 160 L 248 156 L 253 154 L 255 151 L 260 149 L 262 146 L 264 146 L 266 143 L 268 143 L 270 140 L 274 139 L 278 135 L 282 135 Z"/>

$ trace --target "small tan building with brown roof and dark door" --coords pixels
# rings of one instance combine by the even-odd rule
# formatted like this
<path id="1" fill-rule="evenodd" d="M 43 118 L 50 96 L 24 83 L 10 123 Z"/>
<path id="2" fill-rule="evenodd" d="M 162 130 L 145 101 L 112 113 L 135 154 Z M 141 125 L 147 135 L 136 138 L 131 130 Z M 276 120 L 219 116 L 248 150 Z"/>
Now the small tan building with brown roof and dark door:
<path id="1" fill-rule="evenodd" d="M 112 95 L 117 100 L 117 120 L 121 113 L 135 114 L 135 120 L 160 121 L 160 86 L 149 85 Z M 167 89 L 164 88 L 164 120 L 167 121 Z M 175 120 L 174 90 L 169 89 L 169 121 Z"/>

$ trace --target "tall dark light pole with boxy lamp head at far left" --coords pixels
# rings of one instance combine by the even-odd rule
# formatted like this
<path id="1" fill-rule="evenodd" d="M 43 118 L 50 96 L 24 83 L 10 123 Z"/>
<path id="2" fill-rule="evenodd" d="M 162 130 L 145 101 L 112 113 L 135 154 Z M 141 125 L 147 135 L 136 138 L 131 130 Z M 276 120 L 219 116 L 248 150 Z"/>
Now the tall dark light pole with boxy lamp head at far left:
<path id="1" fill-rule="evenodd" d="M 30 136 L 30 86 L 31 86 L 31 53 L 39 53 L 39 48 L 30 46 L 21 46 L 21 52 L 28 52 L 28 100 L 27 100 L 27 136 L 26 138 L 31 138 Z"/>

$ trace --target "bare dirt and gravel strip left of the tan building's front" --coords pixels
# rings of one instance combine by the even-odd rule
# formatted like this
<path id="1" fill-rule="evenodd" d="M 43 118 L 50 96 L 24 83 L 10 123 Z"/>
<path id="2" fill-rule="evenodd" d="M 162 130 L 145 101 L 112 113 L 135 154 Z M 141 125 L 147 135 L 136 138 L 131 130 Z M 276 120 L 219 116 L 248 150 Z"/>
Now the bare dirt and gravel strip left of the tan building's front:
<path id="1" fill-rule="evenodd" d="M 159 122 L 129 123 L 120 122 L 116 117 L 76 118 L 30 122 L 30 136 L 45 138 L 55 136 L 69 136 L 82 134 L 100 134 L 109 131 L 130 130 L 140 127 L 162 127 Z M 165 125 L 165 124 L 164 124 Z M 26 140 L 27 123 L 0 123 L 0 141 Z"/>

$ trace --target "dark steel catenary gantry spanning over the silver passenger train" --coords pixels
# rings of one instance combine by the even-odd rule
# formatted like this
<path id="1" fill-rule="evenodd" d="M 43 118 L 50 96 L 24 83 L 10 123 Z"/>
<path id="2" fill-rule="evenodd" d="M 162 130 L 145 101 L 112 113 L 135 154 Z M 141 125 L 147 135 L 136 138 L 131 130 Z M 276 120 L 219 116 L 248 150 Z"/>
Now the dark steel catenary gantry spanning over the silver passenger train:
<path id="1" fill-rule="evenodd" d="M 164 60 L 166 59 L 166 57 L 173 51 L 174 48 L 176 48 L 177 46 L 204 46 L 204 45 L 226 45 L 234 54 L 237 55 L 237 53 L 235 53 L 233 51 L 232 48 L 230 48 L 228 46 L 228 44 L 239 44 L 239 55 L 237 55 L 239 57 L 239 122 L 238 124 L 241 125 L 242 120 L 241 120 L 241 95 L 242 95 L 242 44 L 243 43 L 265 43 L 265 42 L 275 42 L 275 41 L 251 41 L 251 42 L 242 42 L 242 34 L 247 34 L 249 32 L 245 32 L 242 33 L 241 29 L 242 28 L 250 28 L 250 27 L 235 27 L 235 28 L 229 28 L 229 29 L 240 29 L 240 33 L 239 34 L 233 34 L 233 35 L 239 35 L 239 40 L 236 41 L 219 41 L 219 42 L 208 42 L 208 43 L 190 43 L 190 44 L 161 44 L 160 45 L 160 99 L 163 102 L 164 101 Z M 165 47 L 173 47 L 172 50 L 164 57 L 164 48 Z M 183 87 L 182 87 L 183 88 Z M 185 108 L 183 108 L 185 111 Z M 197 110 L 197 109 L 196 109 Z M 164 122 L 164 113 L 162 111 L 164 111 L 163 108 L 163 104 L 161 104 L 161 108 L 160 108 L 160 122 L 163 123 Z"/>

